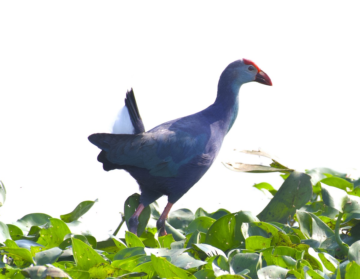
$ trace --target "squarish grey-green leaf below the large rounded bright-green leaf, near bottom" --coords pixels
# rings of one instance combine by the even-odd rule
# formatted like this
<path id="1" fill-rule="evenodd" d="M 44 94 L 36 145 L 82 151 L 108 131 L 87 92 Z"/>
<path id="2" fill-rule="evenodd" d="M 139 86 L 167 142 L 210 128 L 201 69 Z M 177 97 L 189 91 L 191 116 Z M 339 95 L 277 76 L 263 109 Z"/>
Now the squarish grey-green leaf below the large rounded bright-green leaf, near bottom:
<path id="1" fill-rule="evenodd" d="M 248 269 L 250 272 L 246 275 L 256 278 L 257 270 L 262 267 L 262 258 L 256 253 L 236 254 L 231 258 L 229 265 L 230 274 L 239 274 Z"/>

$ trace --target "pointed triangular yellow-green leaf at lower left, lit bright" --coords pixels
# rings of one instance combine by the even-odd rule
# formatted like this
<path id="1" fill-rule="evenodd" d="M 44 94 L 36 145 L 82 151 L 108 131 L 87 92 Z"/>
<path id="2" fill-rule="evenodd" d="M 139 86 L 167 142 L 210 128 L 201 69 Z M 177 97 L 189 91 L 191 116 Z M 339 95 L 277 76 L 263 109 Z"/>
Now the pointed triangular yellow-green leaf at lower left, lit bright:
<path id="1" fill-rule="evenodd" d="M 89 271 L 96 264 L 107 263 L 98 252 L 76 238 L 72 238 L 72 249 L 76 266 L 80 270 Z"/>

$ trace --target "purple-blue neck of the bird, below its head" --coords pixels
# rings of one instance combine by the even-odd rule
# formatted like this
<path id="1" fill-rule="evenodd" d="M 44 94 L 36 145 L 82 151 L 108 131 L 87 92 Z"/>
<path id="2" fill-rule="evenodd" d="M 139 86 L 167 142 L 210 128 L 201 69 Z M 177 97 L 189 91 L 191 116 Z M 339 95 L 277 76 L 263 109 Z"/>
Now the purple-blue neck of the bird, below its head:
<path id="1" fill-rule="evenodd" d="M 223 121 L 227 134 L 233 126 L 239 111 L 239 89 L 242 84 L 235 83 L 226 76 L 221 76 L 217 86 L 217 97 L 213 112 Z"/>

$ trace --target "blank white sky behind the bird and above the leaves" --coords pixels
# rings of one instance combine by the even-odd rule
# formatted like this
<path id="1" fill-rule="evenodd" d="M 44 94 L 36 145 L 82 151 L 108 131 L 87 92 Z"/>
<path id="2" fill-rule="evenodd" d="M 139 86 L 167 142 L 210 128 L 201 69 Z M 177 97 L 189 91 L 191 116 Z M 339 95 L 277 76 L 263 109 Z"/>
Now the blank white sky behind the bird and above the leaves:
<path id="1" fill-rule="evenodd" d="M 109 132 L 130 88 L 146 130 L 203 110 L 222 70 L 241 58 L 273 86 L 240 88 L 221 153 L 173 210 L 259 213 L 268 199 L 252 185 L 279 188 L 282 178 L 226 169 L 221 162 L 266 163 L 234 149 L 260 148 L 298 171 L 360 176 L 359 3 L 126 2 L 0 3 L 2 222 L 35 212 L 59 218 L 98 198 L 81 220 L 94 234 L 111 233 L 139 190 L 125 171 L 102 169 L 87 136 Z"/>

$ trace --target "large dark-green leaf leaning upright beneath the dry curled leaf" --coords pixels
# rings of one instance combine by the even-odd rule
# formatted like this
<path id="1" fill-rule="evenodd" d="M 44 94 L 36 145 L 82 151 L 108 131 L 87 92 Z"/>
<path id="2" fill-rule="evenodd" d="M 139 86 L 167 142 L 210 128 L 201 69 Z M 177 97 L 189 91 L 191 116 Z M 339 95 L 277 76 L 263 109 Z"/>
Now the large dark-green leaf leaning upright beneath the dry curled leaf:
<path id="1" fill-rule="evenodd" d="M 257 218 L 264 222 L 286 223 L 296 209 L 300 209 L 311 199 L 310 179 L 306 173 L 292 172 Z"/>

